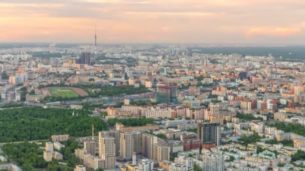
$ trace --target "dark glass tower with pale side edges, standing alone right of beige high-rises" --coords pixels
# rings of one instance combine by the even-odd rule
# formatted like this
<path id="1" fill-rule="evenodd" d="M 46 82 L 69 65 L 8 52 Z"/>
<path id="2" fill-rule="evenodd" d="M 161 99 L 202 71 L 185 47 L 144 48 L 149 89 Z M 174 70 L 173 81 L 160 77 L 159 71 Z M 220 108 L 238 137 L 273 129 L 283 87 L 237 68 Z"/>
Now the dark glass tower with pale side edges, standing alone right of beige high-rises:
<path id="1" fill-rule="evenodd" d="M 197 126 L 198 139 L 202 148 L 211 149 L 221 144 L 220 124 L 215 122 L 199 123 Z"/>

